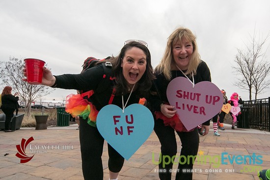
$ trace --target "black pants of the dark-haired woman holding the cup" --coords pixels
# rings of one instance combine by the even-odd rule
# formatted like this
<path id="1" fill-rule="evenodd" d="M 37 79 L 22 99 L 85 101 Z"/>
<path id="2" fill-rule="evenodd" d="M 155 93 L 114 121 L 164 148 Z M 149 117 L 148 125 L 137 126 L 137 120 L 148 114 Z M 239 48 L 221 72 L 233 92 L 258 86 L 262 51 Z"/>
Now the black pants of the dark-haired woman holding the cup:
<path id="1" fill-rule="evenodd" d="M 80 117 L 80 144 L 82 174 L 84 180 L 103 180 L 102 153 L 104 138 L 97 128 L 87 124 L 87 120 Z M 108 168 L 118 173 L 124 164 L 124 158 L 108 144 Z"/>

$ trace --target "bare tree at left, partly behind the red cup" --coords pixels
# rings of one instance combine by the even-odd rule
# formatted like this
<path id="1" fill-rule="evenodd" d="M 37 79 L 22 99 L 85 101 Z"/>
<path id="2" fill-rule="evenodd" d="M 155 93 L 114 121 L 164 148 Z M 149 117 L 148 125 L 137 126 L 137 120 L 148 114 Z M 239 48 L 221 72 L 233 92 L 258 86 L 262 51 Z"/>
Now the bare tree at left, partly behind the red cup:
<path id="1" fill-rule="evenodd" d="M 22 59 L 10 57 L 8 61 L 0 61 L 0 79 L 1 85 L 11 86 L 13 91 L 20 93 L 21 101 L 26 103 L 26 115 L 29 116 L 31 103 L 37 98 L 50 94 L 54 89 L 43 85 L 31 85 L 23 81 L 23 68 Z"/>

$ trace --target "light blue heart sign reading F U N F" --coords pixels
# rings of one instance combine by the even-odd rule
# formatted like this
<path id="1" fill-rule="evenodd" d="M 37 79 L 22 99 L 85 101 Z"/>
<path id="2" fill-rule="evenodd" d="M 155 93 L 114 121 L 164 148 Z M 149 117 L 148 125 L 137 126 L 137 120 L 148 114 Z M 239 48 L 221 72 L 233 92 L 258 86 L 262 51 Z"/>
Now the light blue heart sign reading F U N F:
<path id="1" fill-rule="evenodd" d="M 109 104 L 99 111 L 97 128 L 103 138 L 128 160 L 152 133 L 154 118 L 141 104 L 131 104 L 124 112 L 117 105 Z"/>

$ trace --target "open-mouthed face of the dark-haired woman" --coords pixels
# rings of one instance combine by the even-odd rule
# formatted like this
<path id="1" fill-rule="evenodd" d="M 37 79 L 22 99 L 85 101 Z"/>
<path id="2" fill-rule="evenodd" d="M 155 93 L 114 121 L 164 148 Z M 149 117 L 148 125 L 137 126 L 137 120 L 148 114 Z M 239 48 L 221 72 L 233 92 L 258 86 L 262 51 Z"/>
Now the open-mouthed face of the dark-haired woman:
<path id="1" fill-rule="evenodd" d="M 133 47 L 126 51 L 121 67 L 123 68 L 123 76 L 129 86 L 138 82 L 143 76 L 146 63 L 146 55 L 141 49 Z"/>

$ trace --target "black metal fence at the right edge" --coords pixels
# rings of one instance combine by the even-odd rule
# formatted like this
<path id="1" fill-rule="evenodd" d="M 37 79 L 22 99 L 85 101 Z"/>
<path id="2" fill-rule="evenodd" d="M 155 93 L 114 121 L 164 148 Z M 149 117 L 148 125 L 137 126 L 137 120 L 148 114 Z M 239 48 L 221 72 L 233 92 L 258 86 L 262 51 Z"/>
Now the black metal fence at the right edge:
<path id="1" fill-rule="evenodd" d="M 243 121 L 249 128 L 270 131 L 270 97 L 266 99 L 244 101 Z"/>

